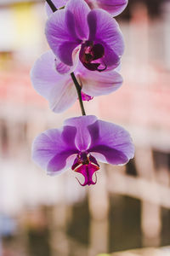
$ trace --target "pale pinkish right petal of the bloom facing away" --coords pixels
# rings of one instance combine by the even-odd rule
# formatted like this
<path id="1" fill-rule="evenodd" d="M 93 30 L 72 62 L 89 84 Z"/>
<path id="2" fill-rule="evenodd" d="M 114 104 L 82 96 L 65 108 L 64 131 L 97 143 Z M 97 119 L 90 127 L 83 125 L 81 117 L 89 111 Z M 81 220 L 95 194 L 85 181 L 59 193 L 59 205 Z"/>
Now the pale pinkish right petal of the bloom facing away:
<path id="1" fill-rule="evenodd" d="M 89 96 L 110 94 L 122 85 L 122 76 L 116 71 L 99 73 L 90 71 L 79 63 L 76 73 L 82 84 L 82 91 Z"/>

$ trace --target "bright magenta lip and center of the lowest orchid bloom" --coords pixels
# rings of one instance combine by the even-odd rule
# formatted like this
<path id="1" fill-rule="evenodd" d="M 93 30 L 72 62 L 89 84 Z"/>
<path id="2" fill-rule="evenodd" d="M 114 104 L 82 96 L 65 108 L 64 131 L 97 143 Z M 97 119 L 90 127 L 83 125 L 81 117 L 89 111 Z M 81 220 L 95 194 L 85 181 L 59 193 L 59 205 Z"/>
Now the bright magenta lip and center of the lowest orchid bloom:
<path id="1" fill-rule="evenodd" d="M 91 185 L 95 184 L 97 182 L 97 177 L 95 182 L 93 181 L 94 172 L 99 170 L 99 164 L 97 160 L 92 156 L 91 154 L 88 154 L 88 152 L 82 151 L 79 154 L 77 154 L 77 158 L 74 160 L 73 165 L 71 166 L 71 169 L 74 172 L 79 172 L 84 176 L 84 183 L 80 183 L 82 185 Z M 96 173 L 95 173 L 96 175 Z"/>

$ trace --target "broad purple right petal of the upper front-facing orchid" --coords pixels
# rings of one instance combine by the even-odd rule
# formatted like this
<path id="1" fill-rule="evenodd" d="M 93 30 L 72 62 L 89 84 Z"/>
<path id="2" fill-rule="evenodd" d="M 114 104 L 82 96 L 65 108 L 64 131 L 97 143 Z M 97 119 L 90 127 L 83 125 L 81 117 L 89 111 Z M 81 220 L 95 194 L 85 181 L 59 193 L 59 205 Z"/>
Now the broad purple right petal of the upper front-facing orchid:
<path id="1" fill-rule="evenodd" d="M 123 54 L 122 32 L 115 19 L 105 10 L 94 9 L 88 14 L 89 40 L 102 44 L 105 48 L 105 65 L 119 65 Z"/>

